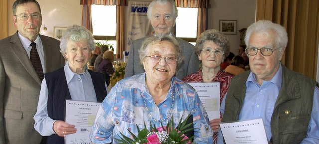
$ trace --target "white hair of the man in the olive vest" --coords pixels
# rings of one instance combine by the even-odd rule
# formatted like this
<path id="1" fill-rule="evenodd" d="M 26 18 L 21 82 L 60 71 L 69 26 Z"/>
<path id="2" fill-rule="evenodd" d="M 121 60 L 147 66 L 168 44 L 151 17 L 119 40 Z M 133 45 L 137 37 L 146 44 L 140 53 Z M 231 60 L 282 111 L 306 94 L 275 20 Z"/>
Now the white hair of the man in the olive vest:
<path id="1" fill-rule="evenodd" d="M 266 35 L 269 35 L 269 32 L 272 31 L 277 34 L 274 39 L 274 44 L 276 44 L 276 46 L 279 48 L 278 50 L 283 53 L 288 43 L 287 31 L 283 26 L 273 23 L 269 20 L 259 20 L 251 24 L 246 31 L 245 43 L 247 46 L 249 46 L 249 39 L 253 32 L 263 32 Z"/>

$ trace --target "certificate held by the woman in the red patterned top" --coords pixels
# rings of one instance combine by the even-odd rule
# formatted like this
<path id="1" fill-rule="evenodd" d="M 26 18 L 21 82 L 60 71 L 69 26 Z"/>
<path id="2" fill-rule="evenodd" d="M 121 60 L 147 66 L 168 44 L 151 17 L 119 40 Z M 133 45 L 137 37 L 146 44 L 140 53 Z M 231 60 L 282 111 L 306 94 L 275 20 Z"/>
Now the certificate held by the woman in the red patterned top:
<path id="1" fill-rule="evenodd" d="M 220 118 L 219 82 L 188 82 L 188 84 L 197 91 L 209 120 Z"/>

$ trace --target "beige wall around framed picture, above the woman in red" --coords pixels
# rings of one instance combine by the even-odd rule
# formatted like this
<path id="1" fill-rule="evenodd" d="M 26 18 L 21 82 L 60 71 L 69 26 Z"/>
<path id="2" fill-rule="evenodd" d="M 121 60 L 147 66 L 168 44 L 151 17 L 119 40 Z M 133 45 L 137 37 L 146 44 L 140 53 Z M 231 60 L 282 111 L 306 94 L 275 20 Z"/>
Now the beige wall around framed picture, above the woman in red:
<path id="1" fill-rule="evenodd" d="M 237 34 L 227 35 L 230 51 L 237 55 L 239 32 L 255 22 L 256 0 L 210 0 L 208 9 L 208 29 L 219 30 L 219 20 L 237 20 Z"/>

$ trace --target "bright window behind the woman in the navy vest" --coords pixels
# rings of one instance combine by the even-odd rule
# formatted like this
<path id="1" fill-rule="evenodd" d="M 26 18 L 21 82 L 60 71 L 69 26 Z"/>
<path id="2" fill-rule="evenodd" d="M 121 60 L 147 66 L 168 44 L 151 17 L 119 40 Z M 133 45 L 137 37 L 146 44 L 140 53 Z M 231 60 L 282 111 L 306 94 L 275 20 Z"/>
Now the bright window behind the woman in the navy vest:
<path id="1" fill-rule="evenodd" d="M 116 6 L 92 5 L 92 27 L 95 42 L 113 44 L 116 54 Z"/>

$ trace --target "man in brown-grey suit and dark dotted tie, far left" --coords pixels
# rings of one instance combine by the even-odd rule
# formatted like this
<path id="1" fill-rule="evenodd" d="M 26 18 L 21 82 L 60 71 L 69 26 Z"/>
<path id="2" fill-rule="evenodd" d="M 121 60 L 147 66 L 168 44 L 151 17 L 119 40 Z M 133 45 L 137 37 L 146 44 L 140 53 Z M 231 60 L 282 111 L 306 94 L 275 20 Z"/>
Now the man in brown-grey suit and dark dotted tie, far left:
<path id="1" fill-rule="evenodd" d="M 39 144 L 33 128 L 43 73 L 64 66 L 60 42 L 39 34 L 41 9 L 35 0 L 16 0 L 18 31 L 0 40 L 0 144 Z"/>

